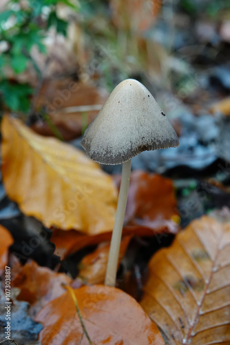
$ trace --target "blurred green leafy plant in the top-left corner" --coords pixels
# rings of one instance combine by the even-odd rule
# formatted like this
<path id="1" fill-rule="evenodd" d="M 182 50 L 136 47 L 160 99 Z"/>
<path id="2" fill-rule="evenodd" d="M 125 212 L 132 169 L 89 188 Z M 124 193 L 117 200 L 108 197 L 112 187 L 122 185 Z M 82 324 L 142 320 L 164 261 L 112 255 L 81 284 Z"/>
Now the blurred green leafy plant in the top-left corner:
<path id="1" fill-rule="evenodd" d="M 59 18 L 56 5 L 64 3 L 77 10 L 79 3 L 74 0 L 20 0 L 8 1 L 5 10 L 0 13 L 0 106 L 1 110 L 26 113 L 30 110 L 30 97 L 33 88 L 28 83 L 19 84 L 8 78 L 6 68 L 16 75 L 25 72 L 28 66 L 34 68 L 39 79 L 41 71 L 32 57 L 32 48 L 36 46 L 42 54 L 46 54 L 43 43 L 45 33 L 54 26 L 56 32 L 66 35 L 68 22 Z"/>

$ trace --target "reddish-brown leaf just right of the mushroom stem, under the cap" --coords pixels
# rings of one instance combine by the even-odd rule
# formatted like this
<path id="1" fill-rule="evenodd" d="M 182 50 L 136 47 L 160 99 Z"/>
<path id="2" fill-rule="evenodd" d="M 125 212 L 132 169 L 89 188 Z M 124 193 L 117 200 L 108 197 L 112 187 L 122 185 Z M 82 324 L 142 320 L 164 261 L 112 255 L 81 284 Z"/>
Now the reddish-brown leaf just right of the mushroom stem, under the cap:
<path id="1" fill-rule="evenodd" d="M 140 170 L 132 172 L 125 212 L 127 226 L 142 226 L 169 233 L 178 230 L 178 210 L 171 179 Z"/>

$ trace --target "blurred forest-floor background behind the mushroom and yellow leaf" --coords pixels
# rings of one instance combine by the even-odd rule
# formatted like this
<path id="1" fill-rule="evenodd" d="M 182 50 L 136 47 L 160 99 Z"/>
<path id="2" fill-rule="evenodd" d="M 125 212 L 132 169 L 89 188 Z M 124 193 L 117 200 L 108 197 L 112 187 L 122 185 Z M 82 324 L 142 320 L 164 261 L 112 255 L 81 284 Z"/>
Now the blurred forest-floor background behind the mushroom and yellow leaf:
<path id="1" fill-rule="evenodd" d="M 0 11 L 1 116 L 81 148 L 113 88 L 138 79 L 180 146 L 132 169 L 174 179 L 182 226 L 230 206 L 229 0 L 1 0 Z M 2 185 L 0 206 L 0 220 L 19 214 Z"/>

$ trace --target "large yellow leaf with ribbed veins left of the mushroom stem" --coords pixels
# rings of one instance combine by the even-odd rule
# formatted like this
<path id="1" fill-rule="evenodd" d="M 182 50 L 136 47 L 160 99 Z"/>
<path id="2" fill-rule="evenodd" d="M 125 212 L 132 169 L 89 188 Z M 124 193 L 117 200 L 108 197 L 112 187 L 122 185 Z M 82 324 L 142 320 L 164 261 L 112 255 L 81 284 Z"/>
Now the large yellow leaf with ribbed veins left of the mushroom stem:
<path id="1" fill-rule="evenodd" d="M 2 174 L 10 199 L 45 226 L 88 234 L 111 230 L 117 191 L 83 152 L 3 117 Z"/>

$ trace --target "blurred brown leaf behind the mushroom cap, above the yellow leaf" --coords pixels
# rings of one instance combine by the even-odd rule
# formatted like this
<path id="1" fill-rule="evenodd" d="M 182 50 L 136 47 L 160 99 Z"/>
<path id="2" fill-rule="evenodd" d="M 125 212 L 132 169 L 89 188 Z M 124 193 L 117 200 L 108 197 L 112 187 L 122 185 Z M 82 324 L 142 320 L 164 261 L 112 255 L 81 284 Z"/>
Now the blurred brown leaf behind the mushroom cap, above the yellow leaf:
<path id="1" fill-rule="evenodd" d="M 103 105 L 106 99 L 107 92 L 90 83 L 75 82 L 72 79 L 51 80 L 44 83 L 37 108 L 39 110 L 43 107 L 63 138 L 71 140 L 82 135 L 84 126 L 93 121 L 98 110 L 87 111 L 84 115 L 83 111 L 68 113 L 64 110 L 76 106 Z M 61 110 L 62 108 L 65 109 Z M 52 128 L 46 122 L 37 121 L 32 128 L 41 135 L 54 136 Z"/>

